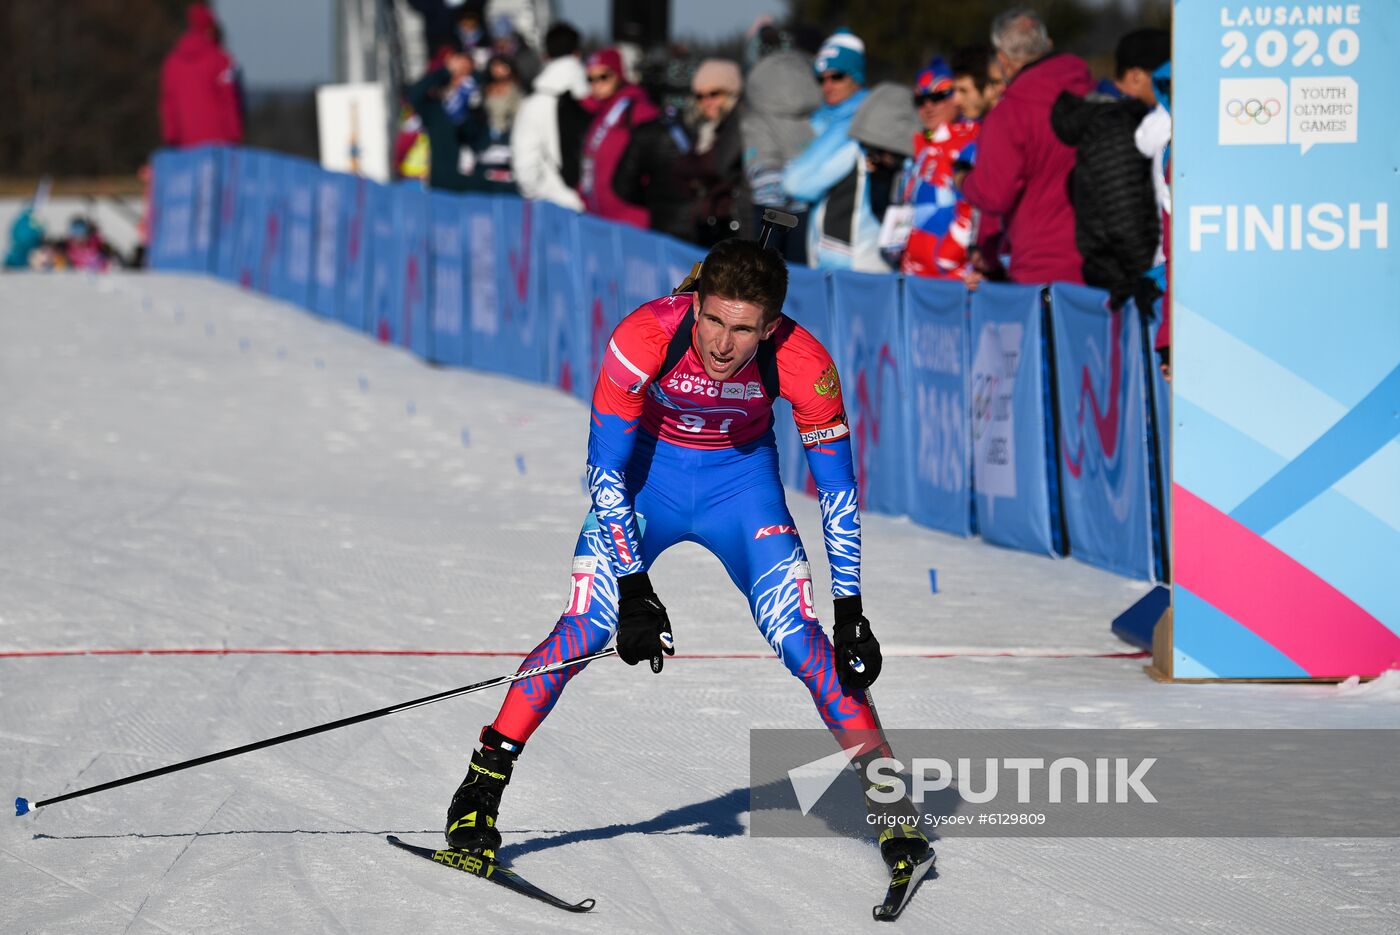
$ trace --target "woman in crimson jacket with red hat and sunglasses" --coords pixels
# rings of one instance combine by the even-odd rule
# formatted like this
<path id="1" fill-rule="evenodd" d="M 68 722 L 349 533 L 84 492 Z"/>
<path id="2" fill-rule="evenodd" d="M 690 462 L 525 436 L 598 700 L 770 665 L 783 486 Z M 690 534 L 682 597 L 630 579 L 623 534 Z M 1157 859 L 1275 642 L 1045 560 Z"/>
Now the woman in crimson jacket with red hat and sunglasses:
<path id="1" fill-rule="evenodd" d="M 631 139 L 631 127 L 661 116 L 645 91 L 623 77 L 622 55 L 602 49 L 588 56 L 588 98 L 581 104 L 594 115 L 584 132 L 584 153 L 578 167 L 578 195 L 584 210 L 610 221 L 647 230 L 647 209 L 630 204 L 613 192 L 612 179 Z"/>

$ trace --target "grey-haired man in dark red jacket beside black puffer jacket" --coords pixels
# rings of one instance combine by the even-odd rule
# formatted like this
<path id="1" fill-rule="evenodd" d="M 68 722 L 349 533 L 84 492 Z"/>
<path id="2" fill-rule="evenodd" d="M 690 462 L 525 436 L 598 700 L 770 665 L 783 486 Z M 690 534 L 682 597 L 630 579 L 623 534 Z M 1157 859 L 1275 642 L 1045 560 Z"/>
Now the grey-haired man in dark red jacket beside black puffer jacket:
<path id="1" fill-rule="evenodd" d="M 1093 87 L 1089 66 L 1053 52 L 1044 22 L 1030 10 L 1008 10 L 991 28 L 1007 90 L 983 122 L 963 196 L 987 214 L 1000 214 L 1011 244 L 1016 283 L 1082 283 L 1084 259 L 1074 245 L 1068 176 L 1074 150 L 1050 127 L 1050 108 L 1061 91 L 1085 95 Z"/>

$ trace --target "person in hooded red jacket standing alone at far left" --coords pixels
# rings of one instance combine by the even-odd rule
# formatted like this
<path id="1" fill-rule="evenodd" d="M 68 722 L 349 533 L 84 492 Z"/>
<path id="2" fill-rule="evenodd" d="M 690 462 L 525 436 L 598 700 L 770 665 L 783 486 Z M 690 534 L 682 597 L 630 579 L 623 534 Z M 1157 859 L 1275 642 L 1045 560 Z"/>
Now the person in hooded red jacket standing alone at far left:
<path id="1" fill-rule="evenodd" d="M 161 139 L 174 147 L 242 143 L 237 66 L 218 43 L 218 22 L 203 3 L 185 15 L 188 28 L 161 64 Z"/>

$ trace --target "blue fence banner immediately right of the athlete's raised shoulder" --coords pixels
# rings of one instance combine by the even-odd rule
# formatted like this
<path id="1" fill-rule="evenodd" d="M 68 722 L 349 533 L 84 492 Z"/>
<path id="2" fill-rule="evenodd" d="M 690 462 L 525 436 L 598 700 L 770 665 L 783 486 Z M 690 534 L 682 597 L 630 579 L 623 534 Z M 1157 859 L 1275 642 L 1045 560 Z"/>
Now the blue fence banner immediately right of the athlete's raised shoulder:
<path id="1" fill-rule="evenodd" d="M 832 273 L 836 356 L 851 455 L 862 508 L 900 514 L 909 502 L 904 406 L 899 349 L 903 316 L 899 279 L 872 273 Z"/>

